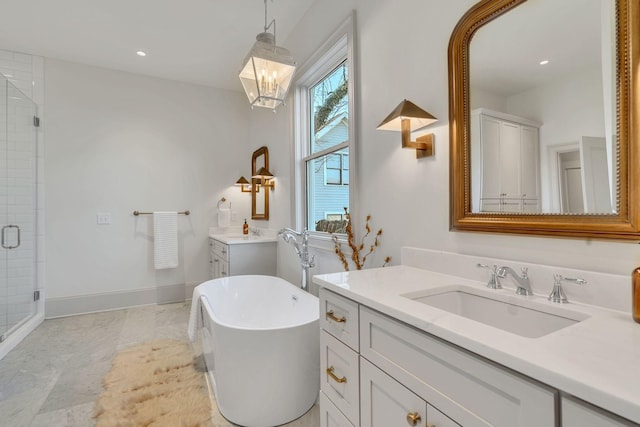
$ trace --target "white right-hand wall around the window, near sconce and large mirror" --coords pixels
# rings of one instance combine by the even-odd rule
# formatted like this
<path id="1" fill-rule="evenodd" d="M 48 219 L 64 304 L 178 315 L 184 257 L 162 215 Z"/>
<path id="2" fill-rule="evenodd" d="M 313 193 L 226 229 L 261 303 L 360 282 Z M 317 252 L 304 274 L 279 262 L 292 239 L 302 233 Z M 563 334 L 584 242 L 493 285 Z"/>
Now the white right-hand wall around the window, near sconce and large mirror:
<path id="1" fill-rule="evenodd" d="M 397 264 L 400 248 L 414 246 L 630 274 L 640 262 L 640 247 L 631 243 L 449 231 L 447 48 L 457 21 L 475 3 L 475 0 L 317 1 L 292 35 L 281 42 L 303 63 L 349 11 L 356 10 L 359 180 L 363 184 L 360 212 L 372 214 L 373 227 L 384 229 L 379 256 L 370 265 L 380 265 L 387 254 Z M 399 134 L 376 130 L 379 121 L 403 98 L 440 119 L 429 128 L 436 137 L 434 158 L 416 160 L 412 150 L 400 148 Z M 278 112 L 277 125 L 266 121 L 254 123 L 253 144 L 254 136 L 259 134 L 273 141 L 270 150 L 289 152 L 292 132 L 280 122 L 280 115 L 285 114 L 291 111 Z M 282 183 L 284 175 L 279 174 L 279 179 Z M 274 223 L 292 224 L 290 212 L 272 211 L 272 218 Z M 289 258 L 285 258 L 286 254 Z M 279 256 L 280 273 L 292 275 L 297 262 L 292 251 L 281 248 Z M 337 262 L 334 266 L 318 265 L 312 272 L 325 269 L 341 270 L 341 267 Z M 534 286 L 545 292 L 552 284 L 550 277 L 548 283 Z"/>

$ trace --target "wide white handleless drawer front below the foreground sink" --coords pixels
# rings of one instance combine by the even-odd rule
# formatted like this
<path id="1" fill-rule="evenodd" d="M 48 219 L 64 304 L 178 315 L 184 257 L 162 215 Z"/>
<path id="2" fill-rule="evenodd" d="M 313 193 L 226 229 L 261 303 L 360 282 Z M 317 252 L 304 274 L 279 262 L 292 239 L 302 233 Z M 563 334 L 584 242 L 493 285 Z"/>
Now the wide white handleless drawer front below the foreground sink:
<path id="1" fill-rule="evenodd" d="M 464 426 L 555 426 L 557 392 L 361 307 L 360 352 Z"/>

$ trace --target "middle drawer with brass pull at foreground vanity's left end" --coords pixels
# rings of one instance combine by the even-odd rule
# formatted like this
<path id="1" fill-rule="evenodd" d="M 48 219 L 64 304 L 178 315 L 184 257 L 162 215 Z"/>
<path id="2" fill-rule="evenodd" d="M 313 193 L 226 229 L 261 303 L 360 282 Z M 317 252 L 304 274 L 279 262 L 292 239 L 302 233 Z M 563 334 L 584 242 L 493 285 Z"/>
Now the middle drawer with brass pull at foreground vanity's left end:
<path id="1" fill-rule="evenodd" d="M 360 425 L 358 353 L 320 333 L 320 389 L 353 425 Z"/>

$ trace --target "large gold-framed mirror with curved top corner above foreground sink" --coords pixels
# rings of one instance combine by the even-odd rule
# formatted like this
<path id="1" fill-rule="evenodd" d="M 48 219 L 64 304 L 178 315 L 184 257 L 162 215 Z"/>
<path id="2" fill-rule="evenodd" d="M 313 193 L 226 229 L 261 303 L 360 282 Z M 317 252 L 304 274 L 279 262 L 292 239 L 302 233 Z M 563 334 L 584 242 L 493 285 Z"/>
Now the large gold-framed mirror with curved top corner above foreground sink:
<path id="1" fill-rule="evenodd" d="M 548 40 L 554 25 L 563 36 Z M 482 0 L 460 19 L 449 42 L 452 230 L 640 240 L 639 25 L 637 0 Z M 551 49 L 564 42 L 596 55 L 568 68 L 580 59 Z M 523 62 L 539 81 L 518 87 Z"/>

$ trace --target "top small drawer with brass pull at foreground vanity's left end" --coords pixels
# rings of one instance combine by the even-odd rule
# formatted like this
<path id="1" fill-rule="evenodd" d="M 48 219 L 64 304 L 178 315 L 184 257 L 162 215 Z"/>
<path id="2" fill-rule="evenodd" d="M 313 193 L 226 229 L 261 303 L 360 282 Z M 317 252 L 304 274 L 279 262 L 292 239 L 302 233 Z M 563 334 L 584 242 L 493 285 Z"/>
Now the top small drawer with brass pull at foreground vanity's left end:
<path id="1" fill-rule="evenodd" d="M 358 351 L 358 303 L 320 289 L 320 327 Z"/>

